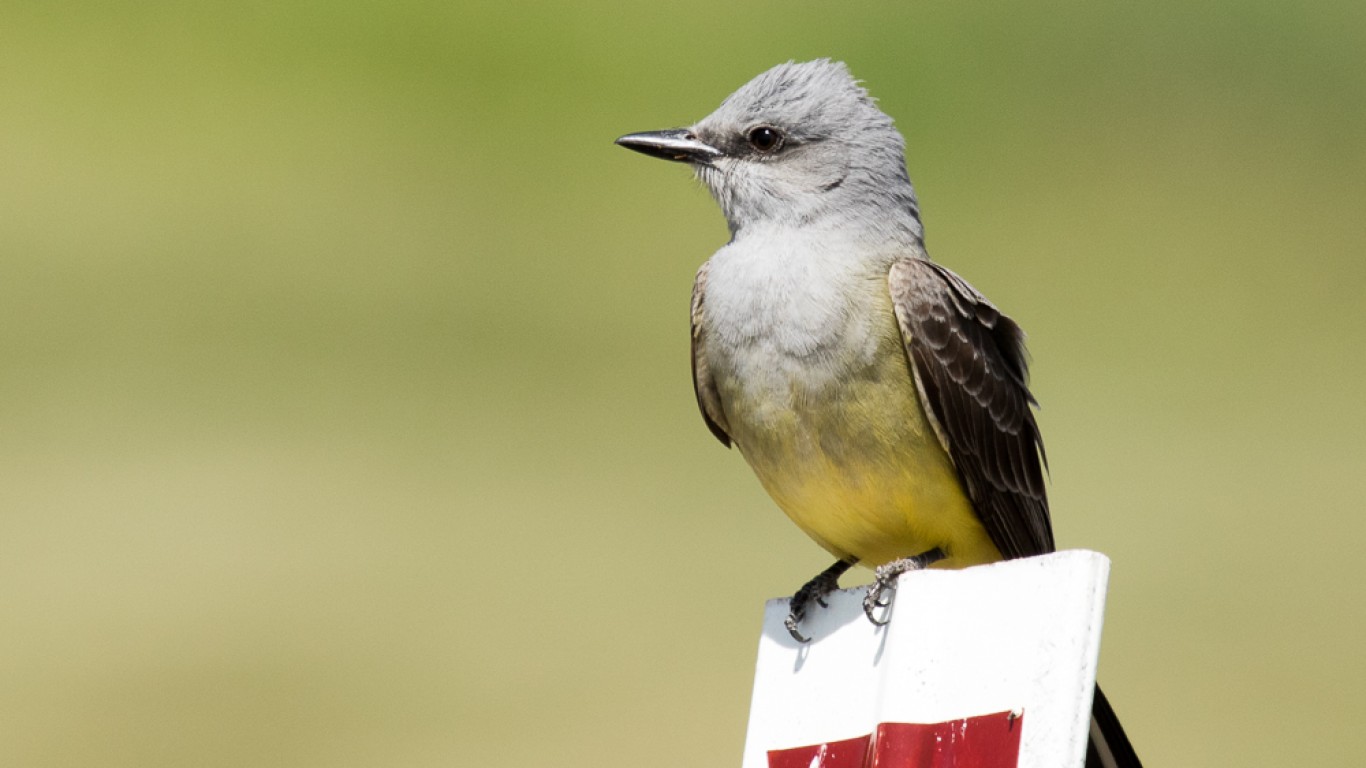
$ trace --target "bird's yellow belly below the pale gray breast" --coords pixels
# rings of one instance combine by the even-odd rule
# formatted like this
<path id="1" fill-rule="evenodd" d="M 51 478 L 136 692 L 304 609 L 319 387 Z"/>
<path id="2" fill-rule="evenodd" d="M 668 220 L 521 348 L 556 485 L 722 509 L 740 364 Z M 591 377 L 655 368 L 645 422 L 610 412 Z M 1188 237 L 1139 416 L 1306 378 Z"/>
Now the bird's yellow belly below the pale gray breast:
<path id="1" fill-rule="evenodd" d="M 900 347 L 876 368 L 785 392 L 721 384 L 735 444 L 779 507 L 840 559 L 880 566 L 938 547 L 937 567 L 1001 559 L 925 417 Z"/>

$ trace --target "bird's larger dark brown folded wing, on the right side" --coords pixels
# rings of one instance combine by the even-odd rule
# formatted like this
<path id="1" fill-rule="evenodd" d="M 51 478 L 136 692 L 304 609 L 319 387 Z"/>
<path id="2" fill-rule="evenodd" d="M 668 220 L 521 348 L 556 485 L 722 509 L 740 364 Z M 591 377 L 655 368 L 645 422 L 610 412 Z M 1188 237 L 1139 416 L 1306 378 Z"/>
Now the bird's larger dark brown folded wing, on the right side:
<path id="1" fill-rule="evenodd" d="M 915 385 L 986 533 L 1005 558 L 1052 552 L 1024 332 L 932 261 L 897 261 L 888 286 Z"/>

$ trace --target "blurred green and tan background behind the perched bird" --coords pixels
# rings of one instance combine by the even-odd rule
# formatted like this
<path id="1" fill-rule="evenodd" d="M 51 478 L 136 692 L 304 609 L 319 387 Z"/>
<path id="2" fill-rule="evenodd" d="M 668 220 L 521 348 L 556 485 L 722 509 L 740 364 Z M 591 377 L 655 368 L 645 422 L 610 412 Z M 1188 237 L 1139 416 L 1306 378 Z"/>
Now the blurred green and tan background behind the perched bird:
<path id="1" fill-rule="evenodd" d="M 826 555 L 612 146 L 850 63 L 1031 333 L 1152 765 L 1366 749 L 1366 4 L 5 3 L 0 764 L 738 765 Z"/>

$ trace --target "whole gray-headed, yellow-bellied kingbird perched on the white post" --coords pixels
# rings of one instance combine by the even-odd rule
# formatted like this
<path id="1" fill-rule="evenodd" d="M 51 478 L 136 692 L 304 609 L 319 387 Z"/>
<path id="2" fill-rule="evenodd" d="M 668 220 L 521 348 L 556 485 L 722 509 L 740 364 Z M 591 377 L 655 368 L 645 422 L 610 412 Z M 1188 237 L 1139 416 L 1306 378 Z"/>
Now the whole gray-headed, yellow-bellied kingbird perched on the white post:
<path id="1" fill-rule="evenodd" d="M 1053 551 L 1024 333 L 929 260 L 904 141 L 843 63 L 787 63 L 693 127 L 617 143 L 687 163 L 731 242 L 693 287 L 702 418 L 874 622 L 902 573 Z M 1096 689 L 1087 765 L 1139 765 Z"/>

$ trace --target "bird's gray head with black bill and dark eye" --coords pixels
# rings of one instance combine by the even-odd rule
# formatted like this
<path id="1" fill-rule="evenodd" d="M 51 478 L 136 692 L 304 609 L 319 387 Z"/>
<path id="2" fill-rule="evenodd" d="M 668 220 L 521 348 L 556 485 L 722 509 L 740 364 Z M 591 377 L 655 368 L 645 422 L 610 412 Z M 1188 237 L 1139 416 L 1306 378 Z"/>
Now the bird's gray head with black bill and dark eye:
<path id="1" fill-rule="evenodd" d="M 691 164 L 735 234 L 780 223 L 922 236 L 902 135 L 839 61 L 779 64 L 690 128 L 616 142 Z"/>

